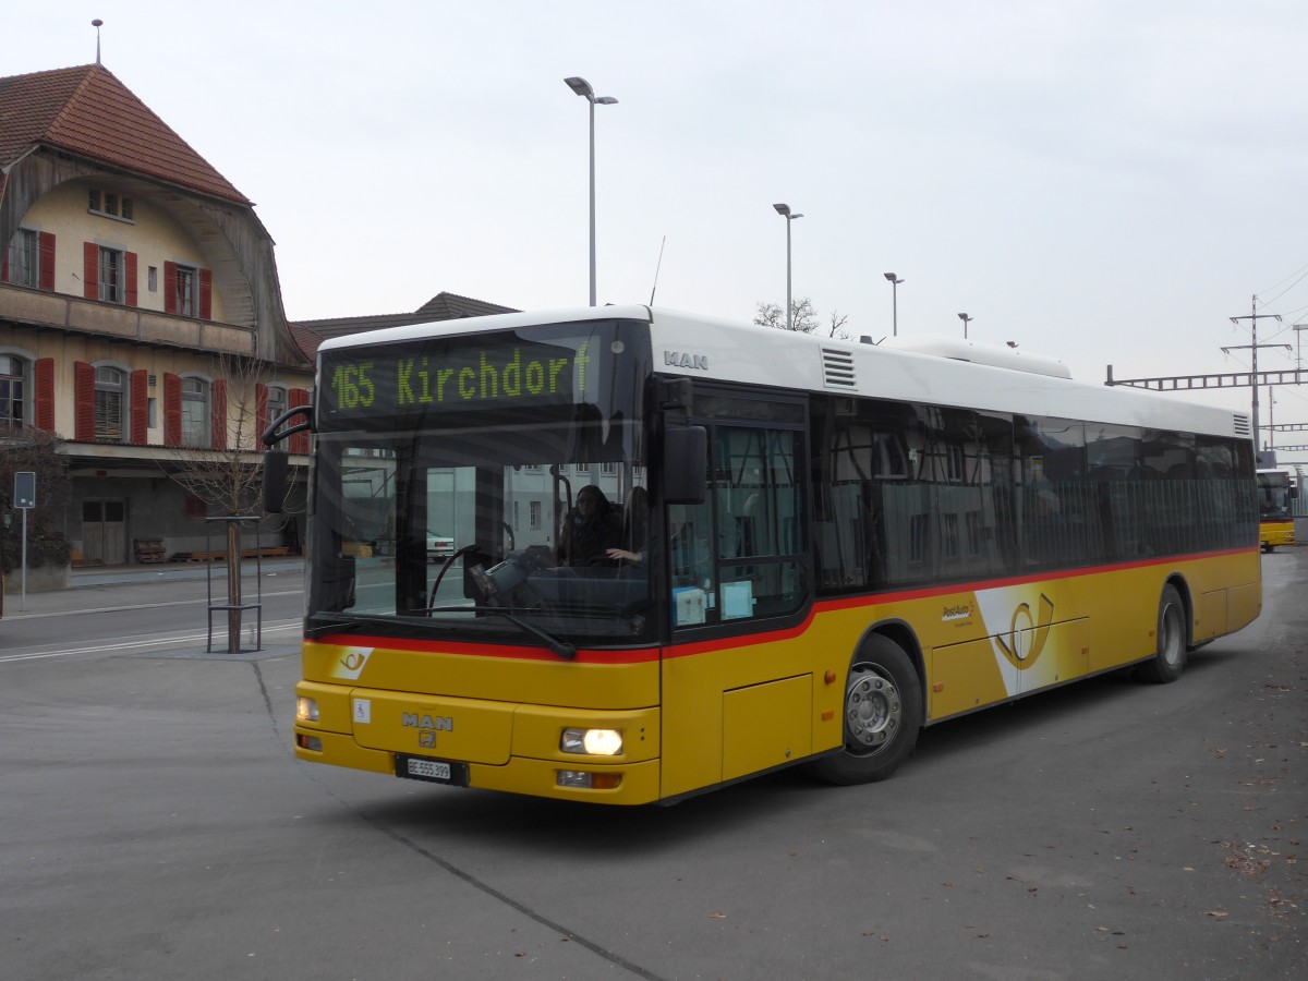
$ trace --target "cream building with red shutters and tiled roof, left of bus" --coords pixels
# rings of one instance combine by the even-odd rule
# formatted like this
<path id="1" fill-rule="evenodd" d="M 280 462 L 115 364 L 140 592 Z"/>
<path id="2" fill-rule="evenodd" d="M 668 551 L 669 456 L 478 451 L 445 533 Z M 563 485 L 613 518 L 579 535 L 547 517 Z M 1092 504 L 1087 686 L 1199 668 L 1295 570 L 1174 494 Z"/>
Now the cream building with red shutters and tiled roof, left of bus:
<path id="1" fill-rule="evenodd" d="M 34 72 L 0 78 L 0 446 L 61 441 L 75 562 L 204 549 L 229 510 L 174 476 L 255 464 L 313 385 L 254 204 L 107 68 Z"/>

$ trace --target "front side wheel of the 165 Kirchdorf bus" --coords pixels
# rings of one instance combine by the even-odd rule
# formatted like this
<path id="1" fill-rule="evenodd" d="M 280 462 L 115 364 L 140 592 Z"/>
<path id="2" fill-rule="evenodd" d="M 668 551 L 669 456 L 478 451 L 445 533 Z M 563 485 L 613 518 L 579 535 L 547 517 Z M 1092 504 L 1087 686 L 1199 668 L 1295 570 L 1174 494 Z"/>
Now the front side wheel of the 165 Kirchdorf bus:
<path id="1" fill-rule="evenodd" d="M 849 664 L 844 698 L 845 748 L 815 760 L 829 783 L 886 780 L 917 746 L 922 729 L 922 683 L 904 649 L 872 634 Z"/>

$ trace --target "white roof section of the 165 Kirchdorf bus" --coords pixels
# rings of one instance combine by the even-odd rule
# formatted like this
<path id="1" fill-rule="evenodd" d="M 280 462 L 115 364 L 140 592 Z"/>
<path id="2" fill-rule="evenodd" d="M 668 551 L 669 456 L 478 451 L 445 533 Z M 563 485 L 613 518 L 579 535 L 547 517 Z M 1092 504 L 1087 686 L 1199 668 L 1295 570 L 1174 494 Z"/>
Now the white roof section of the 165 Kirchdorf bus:
<path id="1" fill-rule="evenodd" d="M 650 326 L 654 370 L 828 395 L 1083 419 L 1249 438 L 1249 417 L 1160 392 L 1078 382 L 1052 357 L 948 337 L 893 344 L 816 337 L 640 305 L 594 306 L 439 320 L 323 341 L 320 352 L 544 323 L 624 319 Z M 964 357 L 965 356 L 965 357 Z"/>

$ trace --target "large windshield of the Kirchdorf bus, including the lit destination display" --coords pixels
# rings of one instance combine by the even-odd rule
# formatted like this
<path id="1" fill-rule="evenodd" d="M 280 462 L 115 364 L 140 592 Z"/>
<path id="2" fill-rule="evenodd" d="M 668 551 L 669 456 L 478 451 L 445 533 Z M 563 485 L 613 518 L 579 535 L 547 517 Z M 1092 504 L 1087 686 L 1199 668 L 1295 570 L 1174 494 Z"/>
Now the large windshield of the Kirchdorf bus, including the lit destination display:
<path id="1" fill-rule="evenodd" d="M 641 641 L 647 349 L 586 322 L 323 352 L 310 633 Z"/>

